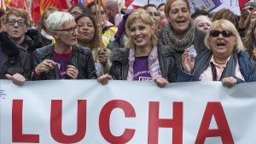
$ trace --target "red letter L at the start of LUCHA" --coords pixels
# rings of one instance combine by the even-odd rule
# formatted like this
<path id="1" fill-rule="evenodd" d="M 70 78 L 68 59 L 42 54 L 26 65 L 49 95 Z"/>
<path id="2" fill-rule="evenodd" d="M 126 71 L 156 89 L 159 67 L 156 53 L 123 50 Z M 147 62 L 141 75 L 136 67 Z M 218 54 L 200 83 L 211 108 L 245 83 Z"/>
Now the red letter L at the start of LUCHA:
<path id="1" fill-rule="evenodd" d="M 12 131 L 13 142 L 39 143 L 39 135 L 22 134 L 22 108 L 23 100 L 13 101 Z"/>

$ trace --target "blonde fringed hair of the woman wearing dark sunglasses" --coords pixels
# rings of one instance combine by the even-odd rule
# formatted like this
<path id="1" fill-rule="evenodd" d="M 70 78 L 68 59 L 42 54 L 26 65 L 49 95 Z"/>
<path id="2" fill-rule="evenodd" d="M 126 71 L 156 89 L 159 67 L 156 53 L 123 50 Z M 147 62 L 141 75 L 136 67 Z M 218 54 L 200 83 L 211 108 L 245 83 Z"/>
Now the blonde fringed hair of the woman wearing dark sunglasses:
<path id="1" fill-rule="evenodd" d="M 208 49 L 211 50 L 209 47 L 209 40 L 210 40 L 210 31 L 218 29 L 218 28 L 223 28 L 224 30 L 230 31 L 234 34 L 236 37 L 236 43 L 235 43 L 235 48 L 236 52 L 240 52 L 242 50 L 245 50 L 245 47 L 243 46 L 243 43 L 241 41 L 241 37 L 239 32 L 236 30 L 236 26 L 230 20 L 215 20 L 212 22 L 212 25 L 210 26 L 209 32 L 207 32 L 207 35 L 205 37 L 205 44 Z"/>

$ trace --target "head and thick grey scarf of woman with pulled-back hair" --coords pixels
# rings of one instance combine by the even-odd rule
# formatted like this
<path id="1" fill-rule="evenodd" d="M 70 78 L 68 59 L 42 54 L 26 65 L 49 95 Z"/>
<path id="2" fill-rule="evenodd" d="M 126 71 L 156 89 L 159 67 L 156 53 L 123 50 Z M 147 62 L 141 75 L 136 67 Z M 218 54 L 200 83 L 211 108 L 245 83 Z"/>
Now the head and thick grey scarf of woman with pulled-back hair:
<path id="1" fill-rule="evenodd" d="M 184 49 L 194 45 L 197 54 L 206 49 L 201 41 L 205 33 L 199 31 L 192 22 L 188 0 L 166 1 L 165 13 L 169 23 L 162 32 L 161 40 L 172 49 L 179 66 Z"/>

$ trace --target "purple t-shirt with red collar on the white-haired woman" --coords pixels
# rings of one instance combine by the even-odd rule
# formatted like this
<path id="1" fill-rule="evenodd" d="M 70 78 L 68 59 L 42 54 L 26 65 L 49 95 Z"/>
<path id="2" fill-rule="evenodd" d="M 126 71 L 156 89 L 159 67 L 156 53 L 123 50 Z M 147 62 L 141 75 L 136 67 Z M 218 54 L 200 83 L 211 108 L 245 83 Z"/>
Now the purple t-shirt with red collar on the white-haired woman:
<path id="1" fill-rule="evenodd" d="M 72 51 L 70 51 L 68 54 L 59 54 L 54 52 L 55 62 L 58 63 L 61 79 L 67 78 L 67 65 L 71 55 L 72 55 Z"/>

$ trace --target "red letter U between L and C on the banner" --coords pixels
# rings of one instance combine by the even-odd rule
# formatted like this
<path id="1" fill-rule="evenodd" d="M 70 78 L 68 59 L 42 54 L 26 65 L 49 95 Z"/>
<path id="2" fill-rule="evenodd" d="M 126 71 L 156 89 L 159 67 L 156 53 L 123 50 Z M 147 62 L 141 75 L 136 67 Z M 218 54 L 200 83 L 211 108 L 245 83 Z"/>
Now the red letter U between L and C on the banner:
<path id="1" fill-rule="evenodd" d="M 78 101 L 78 118 L 77 118 L 77 132 L 74 135 L 64 135 L 62 133 L 62 101 L 51 101 L 50 111 L 50 134 L 60 143 L 76 143 L 84 138 L 86 131 L 86 101 Z"/>

